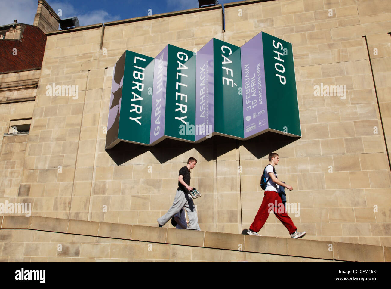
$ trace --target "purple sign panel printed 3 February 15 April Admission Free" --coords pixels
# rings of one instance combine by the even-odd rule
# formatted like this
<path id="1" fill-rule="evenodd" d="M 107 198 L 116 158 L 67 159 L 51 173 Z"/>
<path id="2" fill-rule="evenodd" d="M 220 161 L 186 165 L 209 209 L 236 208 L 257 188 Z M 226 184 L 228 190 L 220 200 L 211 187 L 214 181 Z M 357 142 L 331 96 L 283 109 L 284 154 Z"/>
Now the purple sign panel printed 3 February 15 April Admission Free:
<path id="1" fill-rule="evenodd" d="M 266 130 L 266 85 L 262 33 L 240 47 L 242 61 L 242 93 L 244 138 Z"/>

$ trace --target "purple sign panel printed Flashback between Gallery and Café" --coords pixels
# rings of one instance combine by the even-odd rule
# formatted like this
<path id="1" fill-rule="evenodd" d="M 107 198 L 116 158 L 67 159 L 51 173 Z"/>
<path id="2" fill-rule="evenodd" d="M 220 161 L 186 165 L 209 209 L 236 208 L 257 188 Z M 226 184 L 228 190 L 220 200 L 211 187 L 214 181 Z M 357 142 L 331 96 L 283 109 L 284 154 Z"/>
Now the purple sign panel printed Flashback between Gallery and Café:
<path id="1" fill-rule="evenodd" d="M 195 81 L 195 141 L 214 132 L 213 39 L 197 52 Z"/>

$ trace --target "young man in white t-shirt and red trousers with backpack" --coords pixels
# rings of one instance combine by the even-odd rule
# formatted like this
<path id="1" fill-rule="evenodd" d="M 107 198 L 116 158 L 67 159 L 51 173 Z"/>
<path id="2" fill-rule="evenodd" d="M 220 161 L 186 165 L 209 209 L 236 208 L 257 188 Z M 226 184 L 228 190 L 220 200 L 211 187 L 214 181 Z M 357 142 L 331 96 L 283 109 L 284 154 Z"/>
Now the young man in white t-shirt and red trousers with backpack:
<path id="1" fill-rule="evenodd" d="M 269 154 L 270 163 L 265 167 L 265 178 L 267 179 L 264 199 L 262 204 L 256 213 L 254 222 L 251 224 L 250 229 L 248 230 L 248 235 L 258 235 L 258 232 L 264 226 L 267 217 L 269 217 L 270 210 L 273 210 L 274 214 L 282 222 L 282 224 L 287 228 L 292 239 L 298 239 L 304 237 L 305 231 L 300 233 L 296 226 L 293 224 L 292 219 L 288 216 L 287 211 L 282 203 L 281 197 L 278 194 L 279 186 L 285 187 L 288 190 L 292 191 L 293 188 L 287 184 L 279 181 L 277 179 L 277 173 L 275 173 L 274 166 L 278 164 L 279 157 L 276 153 Z M 275 206 L 277 202 L 277 206 Z M 283 213 L 278 210 L 278 208 L 284 208 Z"/>

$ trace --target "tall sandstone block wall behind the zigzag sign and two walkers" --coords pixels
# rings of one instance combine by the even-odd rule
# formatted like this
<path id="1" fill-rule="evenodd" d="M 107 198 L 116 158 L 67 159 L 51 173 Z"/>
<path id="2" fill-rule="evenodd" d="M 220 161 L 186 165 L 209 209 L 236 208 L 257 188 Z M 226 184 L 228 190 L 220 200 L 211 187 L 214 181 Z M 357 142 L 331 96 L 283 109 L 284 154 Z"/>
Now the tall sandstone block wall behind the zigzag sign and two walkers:
<path id="1" fill-rule="evenodd" d="M 179 168 L 194 156 L 192 186 L 203 193 L 195 200 L 201 229 L 240 233 L 259 208 L 260 174 L 267 155 L 276 151 L 278 177 L 294 188 L 288 202 L 301 206 L 300 216 L 289 215 L 307 231 L 306 239 L 390 246 L 390 168 L 362 37 L 371 54 L 378 48 L 370 57 L 387 139 L 387 3 L 226 4 L 225 32 L 216 6 L 105 23 L 104 31 L 91 25 L 48 33 L 23 165 L 23 188 L 30 185 L 27 195 L 34 197 L 32 214 L 157 226 L 172 204 Z M 301 139 L 213 137 L 196 145 L 167 140 L 153 148 L 118 144 L 104 150 L 113 65 L 124 50 L 155 57 L 168 43 L 193 51 L 212 37 L 240 46 L 260 31 L 292 43 Z M 77 98 L 47 96 L 52 83 L 77 86 Z M 314 96 L 321 83 L 346 85 L 346 98 Z M 260 234 L 289 237 L 274 216 Z"/>

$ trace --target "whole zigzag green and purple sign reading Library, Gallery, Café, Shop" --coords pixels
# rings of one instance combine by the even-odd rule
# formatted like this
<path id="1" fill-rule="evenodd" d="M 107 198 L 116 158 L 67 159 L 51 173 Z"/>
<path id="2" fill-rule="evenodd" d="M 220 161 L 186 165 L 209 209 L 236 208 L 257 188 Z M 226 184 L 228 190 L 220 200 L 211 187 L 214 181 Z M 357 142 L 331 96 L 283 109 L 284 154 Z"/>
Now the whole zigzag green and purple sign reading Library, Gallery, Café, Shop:
<path id="1" fill-rule="evenodd" d="M 213 38 L 197 55 L 167 45 L 125 51 L 113 73 L 106 148 L 215 134 L 301 136 L 292 45 L 259 33 L 242 47 Z"/>

